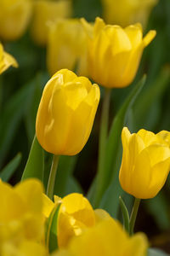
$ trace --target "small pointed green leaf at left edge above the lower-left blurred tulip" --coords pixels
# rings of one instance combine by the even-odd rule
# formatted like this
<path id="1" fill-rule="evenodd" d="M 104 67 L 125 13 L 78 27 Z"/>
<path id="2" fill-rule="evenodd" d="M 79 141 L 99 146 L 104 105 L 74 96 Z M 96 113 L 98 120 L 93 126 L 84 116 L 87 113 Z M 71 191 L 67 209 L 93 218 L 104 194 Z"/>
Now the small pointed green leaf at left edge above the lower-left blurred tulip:
<path id="1" fill-rule="evenodd" d="M 3 182 L 8 182 L 9 178 L 14 174 L 17 167 L 20 165 L 21 154 L 17 154 L 13 160 L 11 160 L 7 166 L 5 166 L 0 172 L 0 178 Z"/>

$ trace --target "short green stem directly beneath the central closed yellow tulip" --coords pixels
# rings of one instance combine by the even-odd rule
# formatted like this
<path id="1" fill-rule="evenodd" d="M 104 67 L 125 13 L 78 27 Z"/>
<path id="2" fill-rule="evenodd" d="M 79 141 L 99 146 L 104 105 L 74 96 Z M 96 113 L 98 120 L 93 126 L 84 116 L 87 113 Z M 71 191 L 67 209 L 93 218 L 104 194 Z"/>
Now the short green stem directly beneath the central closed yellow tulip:
<path id="1" fill-rule="evenodd" d="M 56 177 L 58 165 L 59 165 L 59 155 L 54 154 L 51 170 L 49 173 L 48 189 L 47 189 L 47 195 L 51 200 L 53 200 L 54 183 L 55 183 L 55 177 Z"/>

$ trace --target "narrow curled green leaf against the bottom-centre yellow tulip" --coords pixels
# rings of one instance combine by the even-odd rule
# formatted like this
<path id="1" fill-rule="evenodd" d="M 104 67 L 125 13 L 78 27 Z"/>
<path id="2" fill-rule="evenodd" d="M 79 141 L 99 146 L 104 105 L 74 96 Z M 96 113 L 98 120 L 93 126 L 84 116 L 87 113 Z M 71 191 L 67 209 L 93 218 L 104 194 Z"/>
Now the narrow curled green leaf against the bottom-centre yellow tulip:
<path id="1" fill-rule="evenodd" d="M 53 253 L 58 248 L 57 230 L 58 230 L 58 218 L 59 218 L 59 207 L 57 204 L 53 211 L 50 213 L 45 230 L 45 242 L 48 247 L 49 253 Z"/>

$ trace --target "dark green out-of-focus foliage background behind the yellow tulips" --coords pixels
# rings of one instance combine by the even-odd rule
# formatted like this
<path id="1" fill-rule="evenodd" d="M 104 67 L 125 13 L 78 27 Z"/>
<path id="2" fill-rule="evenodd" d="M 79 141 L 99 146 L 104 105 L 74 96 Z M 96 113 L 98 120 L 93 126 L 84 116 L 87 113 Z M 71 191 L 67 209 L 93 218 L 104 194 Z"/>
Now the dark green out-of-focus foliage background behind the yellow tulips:
<path id="1" fill-rule="evenodd" d="M 74 0 L 71 6 L 71 17 L 84 17 L 88 21 L 94 21 L 96 16 L 103 17 L 103 6 L 99 0 Z M 8 175 L 12 184 L 20 181 L 26 166 L 42 89 L 50 78 L 47 47 L 36 44 L 31 35 L 34 15 L 33 12 L 23 36 L 12 41 L 1 38 L 4 49 L 19 63 L 17 69 L 11 67 L 0 76 L 0 170 L 3 172 L 3 168 L 10 165 L 11 160 L 14 161 L 14 172 Z M 146 84 L 127 117 L 127 126 L 131 131 L 141 128 L 154 132 L 170 131 L 170 0 L 160 0 L 152 9 L 144 34 L 150 29 L 156 29 L 156 38 L 144 49 L 133 84 L 126 89 L 112 90 L 111 119 L 136 81 L 146 73 Z M 82 152 L 75 157 L 62 157 L 59 162 L 59 182 L 55 185 L 55 193 L 59 196 L 71 192 L 88 193 L 97 169 L 100 110 L 101 102 L 92 134 Z M 46 154 L 45 160 L 46 184 L 51 156 Z M 132 198 L 125 196 L 130 208 Z M 136 230 L 144 231 L 149 236 L 152 247 L 160 247 L 167 253 L 170 253 L 169 199 L 170 177 L 156 198 L 142 201 L 136 225 Z M 110 207 L 104 207 L 114 216 Z M 121 212 L 118 212 L 117 218 L 122 218 Z"/>

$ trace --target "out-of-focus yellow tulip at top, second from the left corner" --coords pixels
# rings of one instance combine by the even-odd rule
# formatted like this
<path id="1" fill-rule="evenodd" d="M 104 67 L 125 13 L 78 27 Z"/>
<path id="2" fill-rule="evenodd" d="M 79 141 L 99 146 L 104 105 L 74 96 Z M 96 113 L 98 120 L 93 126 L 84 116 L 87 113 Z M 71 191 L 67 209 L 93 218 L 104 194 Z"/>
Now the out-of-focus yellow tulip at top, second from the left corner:
<path id="1" fill-rule="evenodd" d="M 37 0 L 34 3 L 34 15 L 31 26 L 31 35 L 39 45 L 48 42 L 48 26 L 59 19 L 71 16 L 71 0 Z"/>

